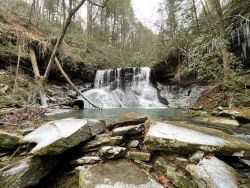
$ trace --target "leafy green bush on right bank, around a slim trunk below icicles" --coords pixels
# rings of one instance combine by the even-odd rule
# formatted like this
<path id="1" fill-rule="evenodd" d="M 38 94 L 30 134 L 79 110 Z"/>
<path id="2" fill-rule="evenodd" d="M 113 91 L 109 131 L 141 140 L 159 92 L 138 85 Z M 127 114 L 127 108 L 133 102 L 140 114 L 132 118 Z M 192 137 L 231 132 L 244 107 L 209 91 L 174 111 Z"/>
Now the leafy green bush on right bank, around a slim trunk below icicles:
<path id="1" fill-rule="evenodd" d="M 237 76 L 237 73 L 242 70 L 241 63 L 234 54 L 228 53 L 230 66 L 225 69 L 220 54 L 224 41 L 214 39 L 213 44 L 216 44 L 216 47 L 204 45 L 203 48 L 199 46 L 191 51 L 185 62 L 185 68 L 188 72 L 197 75 L 198 79 L 217 82 L 223 87 L 235 88 L 242 85 L 242 79 Z"/>

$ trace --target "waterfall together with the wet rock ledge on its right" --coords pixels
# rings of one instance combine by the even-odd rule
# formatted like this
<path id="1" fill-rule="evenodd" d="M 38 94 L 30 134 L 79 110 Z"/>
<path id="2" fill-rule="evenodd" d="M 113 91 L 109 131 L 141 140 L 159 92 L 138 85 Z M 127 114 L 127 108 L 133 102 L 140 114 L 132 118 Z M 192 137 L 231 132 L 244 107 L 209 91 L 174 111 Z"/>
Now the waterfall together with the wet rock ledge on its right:
<path id="1" fill-rule="evenodd" d="M 149 67 L 98 70 L 94 88 L 83 94 L 103 108 L 186 108 L 194 103 L 202 92 L 211 89 L 211 86 L 196 84 L 186 87 L 167 86 L 159 83 L 153 85 L 150 72 Z"/>

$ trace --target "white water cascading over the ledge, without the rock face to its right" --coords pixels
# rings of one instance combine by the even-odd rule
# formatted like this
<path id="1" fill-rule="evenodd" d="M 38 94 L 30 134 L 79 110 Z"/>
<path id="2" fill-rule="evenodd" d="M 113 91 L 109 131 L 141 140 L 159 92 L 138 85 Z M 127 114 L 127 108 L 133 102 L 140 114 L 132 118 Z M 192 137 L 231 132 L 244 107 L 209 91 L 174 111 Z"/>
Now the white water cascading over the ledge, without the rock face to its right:
<path id="1" fill-rule="evenodd" d="M 104 108 L 165 106 L 150 82 L 148 67 L 98 70 L 95 88 L 84 95 Z"/>

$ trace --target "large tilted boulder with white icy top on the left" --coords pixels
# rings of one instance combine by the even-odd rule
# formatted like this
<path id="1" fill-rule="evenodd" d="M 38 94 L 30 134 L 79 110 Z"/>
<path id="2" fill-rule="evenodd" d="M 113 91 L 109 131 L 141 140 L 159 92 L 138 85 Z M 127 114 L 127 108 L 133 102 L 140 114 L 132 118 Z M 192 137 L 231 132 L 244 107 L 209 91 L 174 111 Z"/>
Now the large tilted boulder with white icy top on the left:
<path id="1" fill-rule="evenodd" d="M 61 119 L 48 122 L 30 134 L 22 143 L 37 143 L 35 155 L 58 155 L 105 131 L 103 122 L 93 119 Z"/>

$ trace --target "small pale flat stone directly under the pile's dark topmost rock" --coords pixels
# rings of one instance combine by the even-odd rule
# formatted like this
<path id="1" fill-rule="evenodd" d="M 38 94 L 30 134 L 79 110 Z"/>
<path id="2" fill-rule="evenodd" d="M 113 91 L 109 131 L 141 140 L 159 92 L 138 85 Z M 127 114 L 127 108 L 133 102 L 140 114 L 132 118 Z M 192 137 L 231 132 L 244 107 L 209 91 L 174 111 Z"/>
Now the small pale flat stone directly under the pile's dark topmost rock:
<path id="1" fill-rule="evenodd" d="M 144 131 L 144 124 L 118 127 L 112 130 L 112 135 L 133 135 Z"/>

